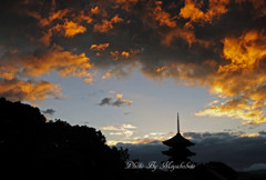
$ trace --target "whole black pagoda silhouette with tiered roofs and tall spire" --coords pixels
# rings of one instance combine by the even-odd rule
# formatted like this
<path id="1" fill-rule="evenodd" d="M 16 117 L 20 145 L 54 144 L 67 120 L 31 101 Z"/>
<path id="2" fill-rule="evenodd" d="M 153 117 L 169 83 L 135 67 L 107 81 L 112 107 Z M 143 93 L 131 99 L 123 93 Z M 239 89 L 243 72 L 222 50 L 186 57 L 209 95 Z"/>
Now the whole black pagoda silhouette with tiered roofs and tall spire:
<path id="1" fill-rule="evenodd" d="M 177 133 L 168 139 L 163 141 L 163 143 L 170 149 L 167 151 L 162 151 L 163 154 L 170 157 L 168 161 L 173 161 L 175 164 L 181 164 L 182 162 L 190 162 L 188 157 L 195 156 L 196 153 L 192 152 L 187 147 L 192 147 L 195 143 L 185 139 L 180 133 L 180 116 L 177 113 Z"/>

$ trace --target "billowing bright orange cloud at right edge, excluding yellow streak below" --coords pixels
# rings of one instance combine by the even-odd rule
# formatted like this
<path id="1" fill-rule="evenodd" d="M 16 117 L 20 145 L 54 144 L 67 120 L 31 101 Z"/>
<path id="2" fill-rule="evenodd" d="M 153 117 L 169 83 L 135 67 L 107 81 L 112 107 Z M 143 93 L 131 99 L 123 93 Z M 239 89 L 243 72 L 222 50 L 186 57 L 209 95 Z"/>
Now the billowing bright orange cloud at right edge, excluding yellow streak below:
<path id="1" fill-rule="evenodd" d="M 238 38 L 225 38 L 223 53 L 228 63 L 219 66 L 215 81 L 211 83 L 214 93 L 235 96 L 266 81 L 262 69 L 266 57 L 263 32 L 248 31 Z"/>

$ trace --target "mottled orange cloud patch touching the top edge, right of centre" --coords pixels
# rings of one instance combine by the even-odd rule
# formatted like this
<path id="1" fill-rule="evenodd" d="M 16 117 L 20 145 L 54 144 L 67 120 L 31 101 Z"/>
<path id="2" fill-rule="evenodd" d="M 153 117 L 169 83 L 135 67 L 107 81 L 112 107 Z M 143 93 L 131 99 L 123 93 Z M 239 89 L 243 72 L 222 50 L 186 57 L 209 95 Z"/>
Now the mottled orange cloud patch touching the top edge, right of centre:
<path id="1" fill-rule="evenodd" d="M 145 24 L 151 26 L 151 28 L 155 29 L 155 31 L 162 37 L 161 43 L 163 46 L 171 47 L 174 40 L 183 39 L 190 44 L 190 47 L 193 43 L 208 47 L 212 42 L 197 39 L 192 22 L 212 22 L 215 17 L 219 17 L 227 12 L 227 9 L 225 8 L 227 3 L 228 0 L 209 0 L 209 9 L 208 12 L 205 13 L 201 10 L 201 7 L 203 6 L 202 1 L 186 0 L 185 6 L 181 8 L 180 13 L 173 14 L 172 12 L 171 14 L 165 10 L 171 9 L 171 6 L 163 6 L 162 1 L 155 1 L 154 4 L 149 3 L 146 6 L 147 11 L 151 12 L 147 12 L 147 18 L 144 17 L 143 20 Z M 152 18 L 153 21 L 158 22 L 158 26 L 151 22 L 150 18 Z M 190 19 L 190 21 L 185 23 L 184 19 Z M 168 27 L 168 29 L 162 27 Z"/>

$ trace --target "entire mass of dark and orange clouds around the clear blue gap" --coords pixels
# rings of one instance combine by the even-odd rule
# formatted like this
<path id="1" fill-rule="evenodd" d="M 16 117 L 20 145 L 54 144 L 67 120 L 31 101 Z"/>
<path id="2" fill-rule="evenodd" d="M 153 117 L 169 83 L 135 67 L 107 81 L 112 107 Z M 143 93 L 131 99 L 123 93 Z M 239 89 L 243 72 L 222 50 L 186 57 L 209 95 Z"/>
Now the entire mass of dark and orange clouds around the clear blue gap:
<path id="1" fill-rule="evenodd" d="M 137 68 L 147 79 L 204 87 L 222 99 L 198 116 L 265 122 L 265 1 L 14 0 L 2 2 L 0 17 L 3 86 L 37 86 L 52 71 L 92 83 Z M 42 89 L 43 96 L 17 83 L 24 96 L 10 97 L 60 96 L 60 84 L 49 83 L 53 90 Z"/>

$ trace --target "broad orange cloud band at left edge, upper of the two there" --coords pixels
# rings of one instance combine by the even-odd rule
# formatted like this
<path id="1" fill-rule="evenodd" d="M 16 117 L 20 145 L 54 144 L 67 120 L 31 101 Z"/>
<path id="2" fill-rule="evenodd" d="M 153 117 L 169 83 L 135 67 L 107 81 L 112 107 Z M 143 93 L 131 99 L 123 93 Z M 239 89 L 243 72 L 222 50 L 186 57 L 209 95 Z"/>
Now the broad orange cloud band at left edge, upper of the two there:
<path id="1" fill-rule="evenodd" d="M 2 59 L 2 62 L 10 59 L 12 63 L 1 64 L 0 68 L 0 74 L 8 79 L 18 74 L 41 77 L 51 71 L 58 71 L 61 77 L 83 78 L 86 79 L 85 81 L 92 78 L 89 70 L 92 69 L 93 64 L 85 53 L 73 54 L 70 51 L 64 51 L 59 46 L 54 46 L 52 49 L 37 56 L 10 54 Z"/>

